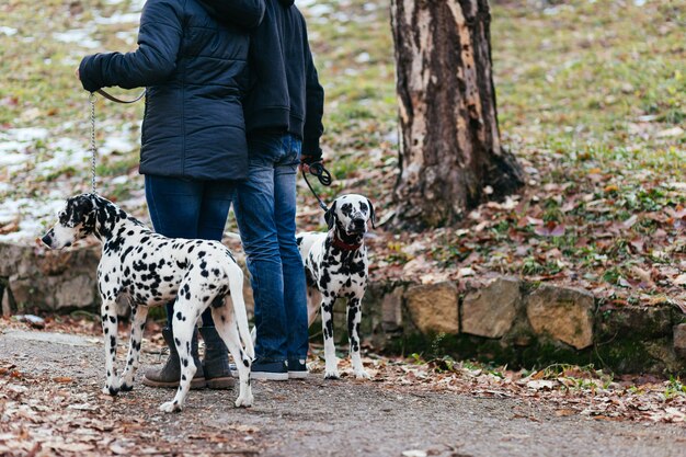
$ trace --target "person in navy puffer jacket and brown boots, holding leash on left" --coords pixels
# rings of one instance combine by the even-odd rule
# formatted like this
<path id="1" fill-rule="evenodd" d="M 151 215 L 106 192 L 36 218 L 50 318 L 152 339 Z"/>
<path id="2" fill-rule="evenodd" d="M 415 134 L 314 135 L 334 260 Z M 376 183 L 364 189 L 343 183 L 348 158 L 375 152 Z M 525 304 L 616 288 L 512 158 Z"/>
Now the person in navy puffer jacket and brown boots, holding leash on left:
<path id="1" fill-rule="evenodd" d="M 236 183 L 248 176 L 248 145 L 241 98 L 248 88 L 248 30 L 264 15 L 264 0 L 232 0 L 231 21 L 219 22 L 201 0 L 148 0 L 138 48 L 133 53 L 87 56 L 77 75 L 83 88 L 147 87 L 140 173 L 156 231 L 173 238 L 221 240 Z M 181 370 L 171 330 L 173 304 L 162 331 L 170 357 L 148 369 L 144 384 L 175 387 Z M 205 359 L 193 387 L 232 384 L 228 352 L 210 309 L 201 333 Z"/>

